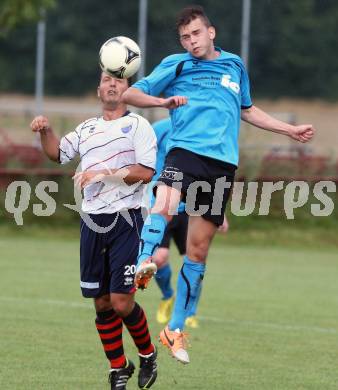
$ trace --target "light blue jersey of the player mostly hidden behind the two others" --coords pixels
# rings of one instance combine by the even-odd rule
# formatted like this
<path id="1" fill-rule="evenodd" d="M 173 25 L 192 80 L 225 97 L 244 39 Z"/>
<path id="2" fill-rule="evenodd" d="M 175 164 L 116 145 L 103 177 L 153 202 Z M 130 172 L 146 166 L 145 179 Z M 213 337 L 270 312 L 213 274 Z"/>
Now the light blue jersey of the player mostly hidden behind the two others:
<path id="1" fill-rule="evenodd" d="M 156 155 L 156 174 L 152 178 L 152 188 L 159 178 L 164 166 L 164 160 L 166 156 L 166 145 L 172 133 L 172 124 L 170 118 L 162 119 L 152 124 L 157 138 L 157 155 Z M 151 193 L 151 206 L 154 205 L 155 198 Z M 180 202 L 178 212 L 182 213 L 185 210 L 185 203 Z"/>

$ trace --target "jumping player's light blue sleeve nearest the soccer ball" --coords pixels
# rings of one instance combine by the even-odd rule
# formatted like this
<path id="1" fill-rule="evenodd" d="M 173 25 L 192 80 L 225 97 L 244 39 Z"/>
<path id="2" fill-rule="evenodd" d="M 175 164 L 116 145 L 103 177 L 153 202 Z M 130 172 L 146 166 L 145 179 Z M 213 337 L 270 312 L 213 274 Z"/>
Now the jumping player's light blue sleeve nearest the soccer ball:
<path id="1" fill-rule="evenodd" d="M 176 67 L 178 62 L 172 57 L 174 56 L 165 58 L 149 76 L 137 81 L 132 87 L 140 89 L 147 95 L 159 96 L 176 78 Z"/>

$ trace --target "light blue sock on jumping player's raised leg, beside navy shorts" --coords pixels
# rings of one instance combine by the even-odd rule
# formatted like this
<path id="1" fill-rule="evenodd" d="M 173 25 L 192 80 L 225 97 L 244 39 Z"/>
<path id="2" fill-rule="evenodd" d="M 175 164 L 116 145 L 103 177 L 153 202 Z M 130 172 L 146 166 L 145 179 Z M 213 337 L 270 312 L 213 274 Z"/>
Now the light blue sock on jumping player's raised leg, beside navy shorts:
<path id="1" fill-rule="evenodd" d="M 167 220 L 161 214 L 149 214 L 144 221 L 137 265 L 141 264 L 149 256 L 152 256 L 160 245 Z"/>

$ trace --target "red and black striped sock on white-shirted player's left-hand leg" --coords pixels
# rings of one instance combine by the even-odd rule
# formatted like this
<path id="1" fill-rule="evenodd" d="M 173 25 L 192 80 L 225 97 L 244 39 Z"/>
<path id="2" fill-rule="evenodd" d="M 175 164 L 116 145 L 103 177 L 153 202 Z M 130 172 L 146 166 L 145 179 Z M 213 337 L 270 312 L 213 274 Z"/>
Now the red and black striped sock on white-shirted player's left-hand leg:
<path id="1" fill-rule="evenodd" d="M 96 329 L 103 345 L 107 359 L 110 361 L 111 368 L 124 367 L 126 357 L 122 342 L 122 319 L 114 310 L 97 312 L 95 320 Z"/>

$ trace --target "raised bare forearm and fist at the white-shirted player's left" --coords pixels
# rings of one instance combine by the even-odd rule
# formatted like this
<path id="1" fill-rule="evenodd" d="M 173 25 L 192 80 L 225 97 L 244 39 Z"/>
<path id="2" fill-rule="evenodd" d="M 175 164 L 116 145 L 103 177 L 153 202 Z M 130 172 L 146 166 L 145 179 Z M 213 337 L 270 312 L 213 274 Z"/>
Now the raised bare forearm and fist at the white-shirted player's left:
<path id="1" fill-rule="evenodd" d="M 53 132 L 48 118 L 45 116 L 36 116 L 31 125 L 32 131 L 40 133 L 41 145 L 47 157 L 52 161 L 59 161 L 60 140 Z"/>

